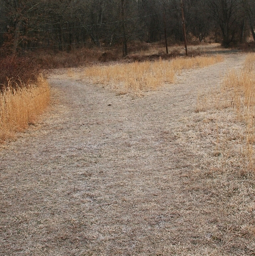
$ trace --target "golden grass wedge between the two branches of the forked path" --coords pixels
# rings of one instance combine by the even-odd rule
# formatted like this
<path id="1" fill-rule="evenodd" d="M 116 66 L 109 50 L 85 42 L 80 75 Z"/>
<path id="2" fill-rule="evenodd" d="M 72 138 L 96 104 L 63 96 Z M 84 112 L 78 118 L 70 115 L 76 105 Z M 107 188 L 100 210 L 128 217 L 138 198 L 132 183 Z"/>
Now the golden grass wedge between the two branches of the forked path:
<path id="1" fill-rule="evenodd" d="M 223 61 L 223 57 L 214 56 L 90 66 L 84 70 L 84 76 L 94 83 L 109 84 L 114 89 L 137 92 L 155 90 L 164 82 L 172 83 L 175 81 L 175 75 L 183 69 L 202 68 L 220 61 Z"/>

